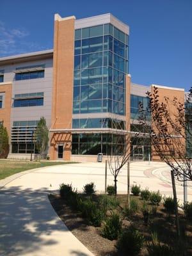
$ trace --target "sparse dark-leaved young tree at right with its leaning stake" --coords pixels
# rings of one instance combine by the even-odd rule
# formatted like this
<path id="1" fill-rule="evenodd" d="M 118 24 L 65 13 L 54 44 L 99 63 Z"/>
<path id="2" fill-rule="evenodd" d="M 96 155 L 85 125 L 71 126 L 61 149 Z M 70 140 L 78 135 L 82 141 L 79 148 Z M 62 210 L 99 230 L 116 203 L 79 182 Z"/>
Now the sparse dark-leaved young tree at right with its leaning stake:
<path id="1" fill-rule="evenodd" d="M 180 227 L 174 177 L 179 181 L 192 180 L 192 154 L 189 150 L 192 148 L 191 92 L 192 90 L 188 93 L 186 104 L 184 99 L 180 100 L 177 97 L 170 99 L 165 96 L 160 100 L 156 87 L 153 88 L 153 92 L 147 93 L 150 98 L 148 109 L 151 114 L 151 128 L 148 134 L 156 154 L 171 168 L 178 236 Z M 142 108 L 140 106 L 141 112 Z M 145 121 L 142 122 L 145 124 Z"/>

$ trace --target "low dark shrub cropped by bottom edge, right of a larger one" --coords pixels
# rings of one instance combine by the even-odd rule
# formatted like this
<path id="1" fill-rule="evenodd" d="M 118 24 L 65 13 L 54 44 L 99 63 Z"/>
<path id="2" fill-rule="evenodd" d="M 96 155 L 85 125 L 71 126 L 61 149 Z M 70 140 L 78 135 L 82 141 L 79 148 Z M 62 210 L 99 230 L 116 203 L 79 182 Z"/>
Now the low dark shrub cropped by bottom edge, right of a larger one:
<path id="1" fill-rule="evenodd" d="M 175 256 L 175 251 L 167 244 L 152 243 L 147 246 L 148 256 Z"/>

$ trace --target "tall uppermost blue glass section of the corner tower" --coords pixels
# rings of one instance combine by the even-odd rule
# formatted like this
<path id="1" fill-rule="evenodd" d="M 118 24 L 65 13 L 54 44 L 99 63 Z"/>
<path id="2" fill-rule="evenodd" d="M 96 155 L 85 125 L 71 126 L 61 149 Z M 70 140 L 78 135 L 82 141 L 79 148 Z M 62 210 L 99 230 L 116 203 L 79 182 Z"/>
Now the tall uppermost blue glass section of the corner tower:
<path id="1" fill-rule="evenodd" d="M 125 115 L 128 35 L 111 24 L 77 29 L 73 113 Z"/>

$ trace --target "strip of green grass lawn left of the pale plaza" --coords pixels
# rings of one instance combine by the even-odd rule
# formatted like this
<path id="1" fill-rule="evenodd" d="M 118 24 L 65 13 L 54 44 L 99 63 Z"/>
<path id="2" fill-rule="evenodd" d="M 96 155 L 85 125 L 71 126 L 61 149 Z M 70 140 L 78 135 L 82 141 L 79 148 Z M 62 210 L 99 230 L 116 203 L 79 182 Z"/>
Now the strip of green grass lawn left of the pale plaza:
<path id="1" fill-rule="evenodd" d="M 0 161 L 0 180 L 4 179 L 10 175 L 18 172 L 24 172 L 26 170 L 52 166 L 58 164 L 71 164 L 74 162 L 51 162 L 51 161 L 40 161 L 40 162 L 30 162 L 30 161 Z"/>

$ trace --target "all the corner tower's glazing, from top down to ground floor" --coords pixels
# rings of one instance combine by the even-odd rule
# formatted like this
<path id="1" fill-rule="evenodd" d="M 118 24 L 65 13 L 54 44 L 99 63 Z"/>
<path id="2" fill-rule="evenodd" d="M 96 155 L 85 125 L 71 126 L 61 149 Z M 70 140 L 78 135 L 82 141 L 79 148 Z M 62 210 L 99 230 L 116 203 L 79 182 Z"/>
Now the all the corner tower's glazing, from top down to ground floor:
<path id="1" fill-rule="evenodd" d="M 128 35 L 111 24 L 75 31 L 73 113 L 125 115 L 125 74 L 128 74 Z M 111 118 L 74 119 L 73 128 L 124 129 Z M 122 127 L 122 128 L 121 128 Z M 124 148 L 118 134 L 73 134 L 72 154 L 111 154 Z"/>

